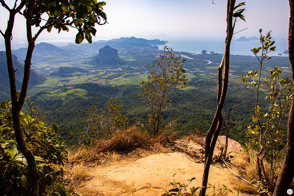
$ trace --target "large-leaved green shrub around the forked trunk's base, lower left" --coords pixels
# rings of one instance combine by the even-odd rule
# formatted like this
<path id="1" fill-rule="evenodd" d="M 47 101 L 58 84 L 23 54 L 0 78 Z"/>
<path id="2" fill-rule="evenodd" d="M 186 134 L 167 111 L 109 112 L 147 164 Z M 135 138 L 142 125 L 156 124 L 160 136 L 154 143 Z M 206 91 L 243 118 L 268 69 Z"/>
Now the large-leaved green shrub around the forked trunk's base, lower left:
<path id="1" fill-rule="evenodd" d="M 68 181 L 63 179 L 66 145 L 57 140 L 60 135 L 56 123 L 46 126 L 44 117 L 29 104 L 29 114 L 20 113 L 25 141 L 34 153 L 39 170 L 40 193 L 66 195 L 73 193 L 66 189 Z M 30 195 L 30 174 L 24 155 L 16 142 L 11 114 L 11 101 L 0 104 L 0 195 Z M 59 165 L 54 169 L 53 165 Z"/>

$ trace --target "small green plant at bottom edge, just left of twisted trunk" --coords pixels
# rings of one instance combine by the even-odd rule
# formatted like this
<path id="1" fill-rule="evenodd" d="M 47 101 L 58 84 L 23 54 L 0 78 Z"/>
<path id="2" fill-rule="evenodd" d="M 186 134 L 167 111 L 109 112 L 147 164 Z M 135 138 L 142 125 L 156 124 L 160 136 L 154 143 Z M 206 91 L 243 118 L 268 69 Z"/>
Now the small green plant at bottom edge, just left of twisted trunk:
<path id="1" fill-rule="evenodd" d="M 193 180 L 195 180 L 196 178 L 193 177 L 191 178 L 190 181 L 187 185 L 186 184 L 181 184 L 181 182 L 175 182 L 175 180 L 173 180 L 173 182 L 170 182 L 170 185 L 173 186 L 172 189 L 170 190 L 164 190 L 165 193 L 161 196 L 169 196 L 169 195 L 178 195 L 178 196 L 194 196 L 196 195 L 196 191 L 200 188 L 200 187 L 197 187 L 195 188 L 194 186 L 190 188 L 190 191 L 191 192 L 187 192 L 187 187 L 189 184 L 191 184 L 191 182 Z"/>

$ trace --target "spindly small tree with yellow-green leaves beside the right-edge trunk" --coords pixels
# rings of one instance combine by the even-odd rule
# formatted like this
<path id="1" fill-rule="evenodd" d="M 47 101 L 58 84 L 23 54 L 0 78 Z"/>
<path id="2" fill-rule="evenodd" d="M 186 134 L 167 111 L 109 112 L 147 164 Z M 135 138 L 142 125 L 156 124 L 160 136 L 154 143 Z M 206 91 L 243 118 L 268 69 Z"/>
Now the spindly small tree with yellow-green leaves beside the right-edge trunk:
<path id="1" fill-rule="evenodd" d="M 258 143 L 257 158 L 257 173 L 258 180 L 261 181 L 262 173 L 266 180 L 268 187 L 273 188 L 273 180 L 275 175 L 275 169 L 277 167 L 277 161 L 280 157 L 280 145 L 283 143 L 281 137 L 283 136 L 283 122 L 282 118 L 286 116 L 290 106 L 291 100 L 290 92 L 293 82 L 289 78 L 280 78 L 282 69 L 275 67 L 274 70 L 270 70 L 269 78 L 265 77 L 264 82 L 261 78 L 263 71 L 263 62 L 270 59 L 268 53 L 275 51 L 274 41 L 271 41 L 270 32 L 263 36 L 262 29 L 259 30 L 261 46 L 253 48 L 251 51 L 259 61 L 259 71 L 250 71 L 246 76 L 242 75 L 242 81 L 246 85 L 250 85 L 257 95 L 255 101 L 255 115 L 253 116 L 253 125 L 248 126 L 247 136 L 253 136 L 249 140 L 250 148 L 257 149 L 255 146 Z M 258 56 L 261 51 L 261 56 Z M 270 95 L 265 98 L 265 102 L 268 104 L 266 111 L 258 106 L 259 103 L 259 91 L 260 88 L 266 89 L 270 92 Z M 267 174 L 264 169 L 263 160 L 267 160 L 270 163 L 270 172 Z"/>

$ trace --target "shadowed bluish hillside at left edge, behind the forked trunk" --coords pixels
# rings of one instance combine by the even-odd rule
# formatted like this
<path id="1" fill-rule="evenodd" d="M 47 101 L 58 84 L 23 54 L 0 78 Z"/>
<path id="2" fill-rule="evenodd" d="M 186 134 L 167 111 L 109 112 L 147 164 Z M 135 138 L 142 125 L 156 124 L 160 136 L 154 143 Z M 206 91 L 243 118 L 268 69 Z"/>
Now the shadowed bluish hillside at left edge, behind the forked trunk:
<path id="1" fill-rule="evenodd" d="M 22 85 L 22 80 L 24 78 L 24 63 L 21 63 L 17 60 L 17 57 L 12 54 L 12 62 L 15 71 L 15 80 L 16 80 L 16 89 L 20 90 Z M 0 76 L 1 83 L 9 84 L 9 76 L 7 71 L 7 62 L 6 62 L 6 53 L 5 51 L 0 51 Z M 30 72 L 30 80 L 29 87 L 40 84 L 45 81 L 46 78 L 44 76 L 39 75 L 35 70 L 31 69 Z M 8 86 L 9 88 L 9 86 Z"/>

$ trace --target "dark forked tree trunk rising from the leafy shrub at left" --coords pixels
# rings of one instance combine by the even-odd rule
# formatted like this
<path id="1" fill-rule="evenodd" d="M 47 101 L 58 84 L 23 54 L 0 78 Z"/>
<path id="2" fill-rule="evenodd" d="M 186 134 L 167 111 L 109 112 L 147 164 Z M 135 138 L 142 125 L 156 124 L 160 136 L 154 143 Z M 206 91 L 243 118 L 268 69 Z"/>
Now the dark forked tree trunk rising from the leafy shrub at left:
<path id="1" fill-rule="evenodd" d="M 27 1 L 22 2 L 22 6 Z M 31 15 L 35 1 L 29 1 L 28 5 L 28 13 L 27 13 L 27 37 L 28 37 L 28 51 L 27 56 L 24 64 L 24 78 L 23 84 L 21 88 L 21 93 L 19 98 L 17 97 L 16 91 L 16 81 L 15 81 L 15 70 L 13 68 L 12 63 L 12 54 L 11 54 L 11 37 L 12 37 L 12 29 L 14 25 L 14 17 L 15 14 L 18 12 L 15 9 L 12 9 L 9 14 L 9 21 L 7 24 L 7 29 L 4 34 L 5 40 L 5 50 L 6 50 L 6 60 L 7 60 L 7 68 L 8 68 L 8 75 L 9 75 L 9 82 L 10 82 L 10 92 L 11 92 L 11 103 L 12 103 L 12 120 L 13 120 L 13 128 L 16 137 L 17 144 L 21 153 L 26 158 L 26 161 L 29 165 L 29 171 L 31 175 L 31 195 L 36 196 L 39 195 L 39 172 L 36 166 L 36 161 L 34 158 L 33 153 L 27 147 L 26 142 L 24 140 L 23 130 L 21 127 L 21 119 L 20 119 L 20 111 L 24 105 L 24 101 L 26 98 L 26 91 L 28 88 L 29 83 L 29 76 L 30 76 L 30 68 L 31 68 L 31 56 L 34 50 L 34 41 L 31 36 Z M 20 5 L 21 6 L 21 5 Z M 28 31 L 29 30 L 29 31 Z M 29 36 L 30 33 L 30 36 Z"/>

